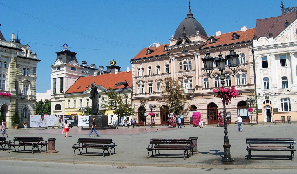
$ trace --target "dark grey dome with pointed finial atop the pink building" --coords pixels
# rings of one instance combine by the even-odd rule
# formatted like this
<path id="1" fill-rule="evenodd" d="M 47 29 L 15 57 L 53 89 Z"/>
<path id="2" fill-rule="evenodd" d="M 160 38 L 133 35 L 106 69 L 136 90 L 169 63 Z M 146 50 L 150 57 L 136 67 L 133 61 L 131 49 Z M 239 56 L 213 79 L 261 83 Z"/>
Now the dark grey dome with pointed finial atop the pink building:
<path id="1" fill-rule="evenodd" d="M 187 18 L 185 18 L 179 24 L 173 38 L 175 39 L 175 38 L 197 34 L 197 31 L 199 31 L 199 34 L 207 37 L 207 34 L 203 26 L 193 17 L 193 14 L 191 11 L 191 5 L 189 1 L 189 12 L 187 14 Z"/>

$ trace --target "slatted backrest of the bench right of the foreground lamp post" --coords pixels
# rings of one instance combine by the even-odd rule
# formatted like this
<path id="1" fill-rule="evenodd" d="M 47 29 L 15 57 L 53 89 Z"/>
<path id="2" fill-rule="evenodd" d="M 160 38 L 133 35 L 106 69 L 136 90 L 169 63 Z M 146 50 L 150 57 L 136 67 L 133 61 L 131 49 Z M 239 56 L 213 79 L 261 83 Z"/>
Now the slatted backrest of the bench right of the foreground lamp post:
<path id="1" fill-rule="evenodd" d="M 295 138 L 246 138 L 247 144 L 296 144 Z"/>

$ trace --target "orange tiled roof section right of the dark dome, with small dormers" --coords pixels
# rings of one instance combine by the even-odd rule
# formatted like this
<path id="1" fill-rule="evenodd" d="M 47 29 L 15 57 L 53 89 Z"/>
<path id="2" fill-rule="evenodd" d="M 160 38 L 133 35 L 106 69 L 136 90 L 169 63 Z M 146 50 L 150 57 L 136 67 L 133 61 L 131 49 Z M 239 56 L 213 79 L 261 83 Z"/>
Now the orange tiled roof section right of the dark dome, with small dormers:
<path id="1" fill-rule="evenodd" d="M 238 34 L 240 37 L 238 39 L 233 39 L 233 33 Z M 244 41 L 248 41 L 248 40 L 252 40 L 255 34 L 255 28 L 252 29 L 247 29 L 247 31 L 233 31 L 230 33 L 224 33 L 221 34 L 220 36 L 208 36 L 209 38 L 211 37 L 215 37 L 217 40 L 217 42 L 215 43 L 210 43 L 210 40 L 207 41 L 207 44 L 204 45 L 201 48 L 208 48 L 208 47 L 213 47 L 213 46 L 219 46 L 219 45 L 225 45 L 225 44 L 232 44 L 232 43 L 236 43 L 236 42 L 244 42 Z M 233 40 L 232 40 L 233 39 Z"/>

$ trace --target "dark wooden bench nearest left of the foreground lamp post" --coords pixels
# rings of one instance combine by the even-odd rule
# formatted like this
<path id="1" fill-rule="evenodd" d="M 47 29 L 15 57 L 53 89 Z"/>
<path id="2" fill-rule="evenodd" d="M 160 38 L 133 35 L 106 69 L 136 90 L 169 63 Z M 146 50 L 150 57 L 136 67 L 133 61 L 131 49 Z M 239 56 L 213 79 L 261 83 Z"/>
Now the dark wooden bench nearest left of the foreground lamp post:
<path id="1" fill-rule="evenodd" d="M 156 156 L 156 151 L 158 150 L 158 154 L 160 154 L 160 150 L 182 150 L 184 151 L 184 159 L 186 159 L 186 152 L 187 157 L 191 157 L 191 149 L 193 154 L 194 145 L 191 139 L 157 139 L 152 138 L 150 140 L 150 144 L 146 148 L 148 150 L 148 157 L 149 152 L 151 151 L 152 156 Z M 153 154 L 153 150 L 155 150 L 155 155 Z M 190 151 L 190 153 L 189 153 Z"/>

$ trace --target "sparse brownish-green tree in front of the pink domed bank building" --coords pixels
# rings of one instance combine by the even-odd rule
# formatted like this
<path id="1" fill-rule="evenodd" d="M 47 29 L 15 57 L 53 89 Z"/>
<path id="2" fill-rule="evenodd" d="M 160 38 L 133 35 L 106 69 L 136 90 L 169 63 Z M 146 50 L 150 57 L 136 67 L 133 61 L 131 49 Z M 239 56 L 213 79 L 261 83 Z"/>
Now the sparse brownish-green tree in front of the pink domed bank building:
<path id="1" fill-rule="evenodd" d="M 187 97 L 179 81 L 173 77 L 167 77 L 162 82 L 162 99 L 167 107 L 160 109 L 168 113 L 174 112 L 176 115 L 187 113 L 187 108 L 185 108 Z"/>

